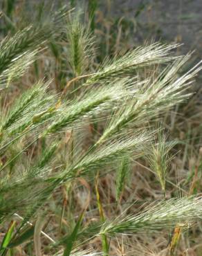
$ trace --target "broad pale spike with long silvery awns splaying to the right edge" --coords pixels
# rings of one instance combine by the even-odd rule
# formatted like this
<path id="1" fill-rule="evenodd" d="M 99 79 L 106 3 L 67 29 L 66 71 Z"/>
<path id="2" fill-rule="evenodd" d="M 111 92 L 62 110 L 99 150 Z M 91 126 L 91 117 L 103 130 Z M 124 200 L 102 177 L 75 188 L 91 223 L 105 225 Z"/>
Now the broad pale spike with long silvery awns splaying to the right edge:
<path id="1" fill-rule="evenodd" d="M 155 118 L 163 111 L 182 102 L 190 96 L 185 91 L 192 84 L 192 79 L 201 70 L 201 62 L 194 66 L 185 75 L 178 77 L 177 71 L 185 64 L 190 55 L 176 60 L 174 64 L 165 68 L 154 81 L 147 81 L 145 86 L 140 87 L 136 92 L 136 97 L 128 98 L 127 104 L 123 105 L 117 115 L 102 134 L 98 143 L 113 136 L 129 125 L 143 125 L 151 118 Z"/>

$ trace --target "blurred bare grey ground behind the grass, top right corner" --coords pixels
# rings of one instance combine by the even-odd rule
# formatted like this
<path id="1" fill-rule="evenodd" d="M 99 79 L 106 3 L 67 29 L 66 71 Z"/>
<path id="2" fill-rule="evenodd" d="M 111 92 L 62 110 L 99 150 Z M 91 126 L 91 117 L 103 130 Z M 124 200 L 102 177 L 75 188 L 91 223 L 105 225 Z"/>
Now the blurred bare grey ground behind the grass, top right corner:
<path id="1" fill-rule="evenodd" d="M 137 31 L 140 39 L 181 42 L 184 44 L 183 52 L 196 50 L 201 57 L 201 0 L 113 0 L 110 9 L 116 17 L 135 17 L 145 30 L 145 33 Z"/>

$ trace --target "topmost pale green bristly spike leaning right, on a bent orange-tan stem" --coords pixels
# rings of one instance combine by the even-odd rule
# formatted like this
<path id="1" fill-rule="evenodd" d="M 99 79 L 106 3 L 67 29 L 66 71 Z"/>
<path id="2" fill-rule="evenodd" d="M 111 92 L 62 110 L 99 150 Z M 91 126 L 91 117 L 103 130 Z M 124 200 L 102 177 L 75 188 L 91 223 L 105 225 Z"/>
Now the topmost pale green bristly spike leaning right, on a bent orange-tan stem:
<path id="1" fill-rule="evenodd" d="M 140 67 L 174 60 L 174 57 L 170 57 L 169 53 L 176 47 L 178 47 L 177 44 L 165 45 L 160 43 L 139 46 L 121 57 L 106 60 L 97 73 L 86 81 L 86 84 L 109 80 L 112 77 L 122 77 L 123 75 L 134 76 L 135 71 Z"/>

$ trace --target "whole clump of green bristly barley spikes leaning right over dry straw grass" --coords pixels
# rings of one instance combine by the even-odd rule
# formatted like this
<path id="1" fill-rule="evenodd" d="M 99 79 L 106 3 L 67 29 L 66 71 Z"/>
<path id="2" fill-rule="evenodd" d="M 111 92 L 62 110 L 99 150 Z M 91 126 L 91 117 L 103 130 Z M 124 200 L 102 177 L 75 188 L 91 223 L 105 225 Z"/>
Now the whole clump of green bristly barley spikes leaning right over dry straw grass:
<path id="1" fill-rule="evenodd" d="M 189 98 L 188 89 L 201 70 L 197 64 L 179 76 L 190 54 L 173 57 L 178 45 L 160 43 L 108 57 L 95 69 L 91 62 L 95 52 L 93 35 L 79 16 L 67 16 L 63 9 L 48 24 L 30 25 L 1 42 L 1 255 L 12 255 L 15 248 L 30 241 L 34 241 L 31 250 L 37 256 L 46 247 L 48 255 L 109 255 L 110 239 L 120 234 L 170 232 L 176 225 L 189 228 L 201 219 L 201 196 L 162 198 L 136 214 L 125 210 L 109 219 L 104 216 L 97 190 L 100 221 L 84 224 L 91 204 L 88 201 L 66 235 L 59 233 L 53 239 L 51 233 L 42 230 L 44 218 L 48 219 L 42 211 L 48 215 L 46 208 L 59 188 L 68 188 L 71 196 L 78 180 L 93 186 L 98 174 L 106 173 L 104 170 L 117 174 L 116 195 L 120 203 L 127 176 L 138 158 L 149 160 L 165 194 L 172 157 L 169 151 L 174 144 L 167 143 L 163 129 L 155 129 L 152 124 L 165 111 Z M 27 71 L 37 54 L 46 51 L 59 33 L 66 42 L 64 50 L 72 80 L 60 93 L 49 88 L 51 81 L 40 80 L 29 84 L 30 89 L 21 91 L 12 104 L 8 103 L 12 81 Z M 151 73 L 151 69 L 155 71 Z M 104 125 L 100 135 L 86 142 L 86 127 L 98 129 L 99 125 Z M 62 148 L 63 161 L 59 154 Z M 48 246 L 42 246 L 41 235 L 48 239 Z M 102 251 L 82 250 L 96 237 L 102 240 Z"/>

